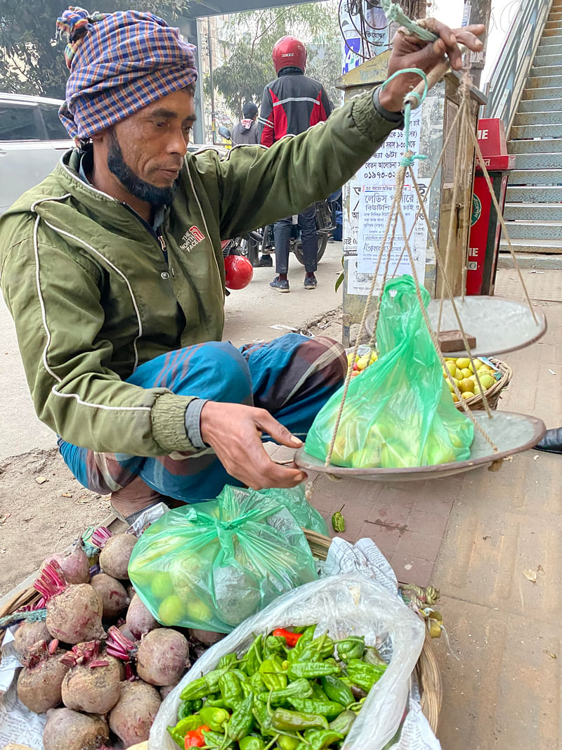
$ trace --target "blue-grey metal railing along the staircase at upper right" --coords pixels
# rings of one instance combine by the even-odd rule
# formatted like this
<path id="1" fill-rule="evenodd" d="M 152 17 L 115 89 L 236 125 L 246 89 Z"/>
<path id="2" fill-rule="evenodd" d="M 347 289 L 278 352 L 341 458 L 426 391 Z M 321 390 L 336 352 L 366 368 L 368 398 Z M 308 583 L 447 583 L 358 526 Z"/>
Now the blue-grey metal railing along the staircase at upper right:
<path id="1" fill-rule="evenodd" d="M 489 79 L 485 117 L 504 121 L 509 133 L 552 0 L 520 0 Z"/>

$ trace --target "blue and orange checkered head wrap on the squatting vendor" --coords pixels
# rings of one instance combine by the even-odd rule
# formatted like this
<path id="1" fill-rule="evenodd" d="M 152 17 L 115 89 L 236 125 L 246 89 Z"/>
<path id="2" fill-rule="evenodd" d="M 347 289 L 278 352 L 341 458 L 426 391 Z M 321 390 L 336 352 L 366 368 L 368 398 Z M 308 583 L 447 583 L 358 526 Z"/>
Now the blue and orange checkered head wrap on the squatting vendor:
<path id="1" fill-rule="evenodd" d="M 70 77 L 59 110 L 76 141 L 91 138 L 172 92 L 195 83 L 195 47 L 178 28 L 137 10 L 88 13 L 70 7 L 57 20 L 68 34 Z"/>

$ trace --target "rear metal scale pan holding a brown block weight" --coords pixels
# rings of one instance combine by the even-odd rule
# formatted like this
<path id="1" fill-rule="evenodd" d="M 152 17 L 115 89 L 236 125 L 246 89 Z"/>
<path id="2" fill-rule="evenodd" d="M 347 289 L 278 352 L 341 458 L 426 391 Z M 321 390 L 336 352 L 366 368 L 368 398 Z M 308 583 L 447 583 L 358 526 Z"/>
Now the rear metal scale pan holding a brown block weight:
<path id="1" fill-rule="evenodd" d="M 476 337 L 476 346 L 471 350 L 473 356 L 498 355 L 513 352 L 516 349 L 534 344 L 546 333 L 546 317 L 540 308 L 533 312 L 526 302 L 515 299 L 488 296 L 455 297 L 456 309 L 459 313 L 462 327 L 467 334 Z M 440 299 L 432 299 L 427 306 L 429 321 L 434 330 L 439 325 Z M 372 335 L 374 314 L 370 314 L 365 321 L 365 329 Z M 441 314 L 441 331 L 459 329 L 453 305 L 450 299 L 443 302 Z M 446 357 L 463 357 L 466 350 L 444 353 Z"/>

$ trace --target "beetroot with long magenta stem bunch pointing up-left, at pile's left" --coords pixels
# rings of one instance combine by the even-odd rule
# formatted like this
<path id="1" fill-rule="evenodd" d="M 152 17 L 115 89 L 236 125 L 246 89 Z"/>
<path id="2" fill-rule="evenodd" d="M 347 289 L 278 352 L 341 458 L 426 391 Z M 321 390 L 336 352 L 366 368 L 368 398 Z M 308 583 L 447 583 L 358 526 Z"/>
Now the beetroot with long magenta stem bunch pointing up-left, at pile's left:
<path id="1" fill-rule="evenodd" d="M 67 586 L 58 562 L 47 563 L 33 584 L 46 598 L 46 627 L 64 643 L 104 638 L 103 604 L 89 583 Z"/>

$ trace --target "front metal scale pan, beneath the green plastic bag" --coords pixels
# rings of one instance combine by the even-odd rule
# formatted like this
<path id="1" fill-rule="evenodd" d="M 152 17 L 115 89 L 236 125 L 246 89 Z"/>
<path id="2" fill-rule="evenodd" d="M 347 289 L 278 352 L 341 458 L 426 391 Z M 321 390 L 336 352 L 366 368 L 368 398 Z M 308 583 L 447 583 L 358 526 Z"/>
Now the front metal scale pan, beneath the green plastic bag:
<path id="1" fill-rule="evenodd" d="M 409 466 L 400 469 L 353 469 L 335 466 L 333 463 L 324 466 L 324 461 L 314 458 L 300 448 L 294 455 L 294 462 L 303 469 L 340 478 L 385 482 L 423 481 L 460 474 L 471 469 L 478 469 L 480 466 L 490 466 L 495 460 L 533 448 L 543 439 L 546 431 L 542 419 L 525 414 L 492 412 L 492 419 L 489 419 L 486 412 L 474 412 L 474 417 L 498 447 L 498 453 L 494 453 L 480 432 L 475 430 L 471 458 L 464 461 L 439 463 L 435 466 Z"/>

